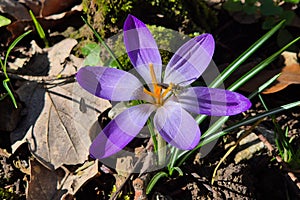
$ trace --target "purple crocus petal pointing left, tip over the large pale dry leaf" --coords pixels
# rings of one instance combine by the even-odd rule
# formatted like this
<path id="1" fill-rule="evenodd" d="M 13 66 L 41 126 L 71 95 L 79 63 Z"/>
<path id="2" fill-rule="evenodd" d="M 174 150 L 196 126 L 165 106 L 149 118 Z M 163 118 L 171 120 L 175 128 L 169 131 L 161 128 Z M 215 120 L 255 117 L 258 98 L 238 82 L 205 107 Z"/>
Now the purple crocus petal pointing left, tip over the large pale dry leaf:
<path id="1" fill-rule="evenodd" d="M 108 67 L 83 67 L 76 74 L 81 87 L 95 96 L 112 100 L 147 100 L 142 83 L 132 74 Z"/>

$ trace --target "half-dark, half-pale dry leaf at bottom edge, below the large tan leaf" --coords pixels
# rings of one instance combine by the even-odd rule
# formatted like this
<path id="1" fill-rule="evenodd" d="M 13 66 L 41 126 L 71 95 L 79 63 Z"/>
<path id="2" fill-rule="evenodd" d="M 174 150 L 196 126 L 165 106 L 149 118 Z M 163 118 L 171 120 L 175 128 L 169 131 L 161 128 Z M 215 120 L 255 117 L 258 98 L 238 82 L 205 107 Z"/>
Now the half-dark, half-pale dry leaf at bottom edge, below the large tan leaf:
<path id="1" fill-rule="evenodd" d="M 63 170 L 64 169 L 64 170 Z M 75 173 L 67 168 L 49 170 L 36 160 L 30 161 L 30 181 L 26 191 L 27 199 L 63 199 L 75 193 L 91 178 L 100 175 L 98 162 L 87 162 Z"/>

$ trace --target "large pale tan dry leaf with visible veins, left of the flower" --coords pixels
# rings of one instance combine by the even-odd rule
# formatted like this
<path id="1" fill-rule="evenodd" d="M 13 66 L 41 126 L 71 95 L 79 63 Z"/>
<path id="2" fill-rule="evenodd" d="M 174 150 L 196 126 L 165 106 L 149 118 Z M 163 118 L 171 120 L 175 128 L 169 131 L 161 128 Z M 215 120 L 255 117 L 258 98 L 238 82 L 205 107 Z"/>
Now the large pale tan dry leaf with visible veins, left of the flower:
<path id="1" fill-rule="evenodd" d="M 49 51 L 53 56 L 49 59 L 49 76 L 75 73 L 74 63 L 61 63 L 74 46 L 65 42 L 71 43 L 62 41 L 58 44 L 60 48 Z M 28 142 L 31 153 L 49 169 L 63 164 L 76 165 L 87 159 L 91 141 L 100 132 L 98 115 L 110 106 L 108 101 L 89 94 L 75 82 L 58 81 L 58 85 L 48 88 L 34 82 L 20 87 L 18 94 L 28 114 L 11 133 L 13 152 Z"/>

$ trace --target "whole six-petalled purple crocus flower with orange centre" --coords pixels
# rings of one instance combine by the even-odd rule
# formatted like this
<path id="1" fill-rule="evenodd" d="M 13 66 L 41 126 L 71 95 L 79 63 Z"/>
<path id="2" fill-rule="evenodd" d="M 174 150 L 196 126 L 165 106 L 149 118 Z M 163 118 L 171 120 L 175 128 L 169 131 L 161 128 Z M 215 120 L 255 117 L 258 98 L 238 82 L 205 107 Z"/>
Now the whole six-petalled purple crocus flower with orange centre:
<path id="1" fill-rule="evenodd" d="M 202 34 L 180 47 L 162 72 L 155 40 L 146 25 L 129 15 L 124 24 L 124 43 L 140 81 L 129 72 L 109 67 L 83 67 L 77 81 L 95 96 L 112 101 L 143 100 L 116 116 L 96 137 L 90 154 L 102 159 L 122 150 L 154 113 L 154 127 L 171 145 L 193 149 L 200 129 L 190 112 L 229 116 L 247 110 L 250 101 L 235 92 L 207 87 L 188 87 L 209 65 L 214 39 Z M 178 86 L 180 85 L 180 86 Z"/>

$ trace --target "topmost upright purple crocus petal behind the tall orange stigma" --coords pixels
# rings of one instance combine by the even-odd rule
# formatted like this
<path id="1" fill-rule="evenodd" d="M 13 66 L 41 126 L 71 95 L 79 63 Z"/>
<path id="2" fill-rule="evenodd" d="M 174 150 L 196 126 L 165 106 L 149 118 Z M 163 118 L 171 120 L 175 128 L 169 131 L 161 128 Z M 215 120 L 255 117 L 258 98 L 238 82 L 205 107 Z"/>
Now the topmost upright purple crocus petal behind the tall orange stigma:
<path id="1" fill-rule="evenodd" d="M 132 15 L 124 23 L 124 43 L 128 56 L 146 83 L 152 83 L 149 63 L 154 66 L 158 82 L 161 82 L 162 62 L 157 44 L 146 25 Z"/>

